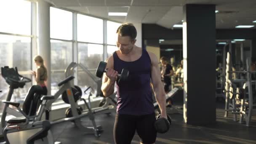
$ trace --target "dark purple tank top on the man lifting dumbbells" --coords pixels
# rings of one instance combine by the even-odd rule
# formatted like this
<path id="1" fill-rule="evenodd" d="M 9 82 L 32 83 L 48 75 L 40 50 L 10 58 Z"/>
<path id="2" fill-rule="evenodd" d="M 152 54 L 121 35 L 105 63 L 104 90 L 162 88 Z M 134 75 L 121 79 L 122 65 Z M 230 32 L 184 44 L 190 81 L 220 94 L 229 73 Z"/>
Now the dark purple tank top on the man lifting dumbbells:
<path id="1" fill-rule="evenodd" d="M 142 55 L 136 61 L 123 61 L 113 53 L 114 69 L 121 73 L 129 70 L 128 80 L 117 83 L 117 114 L 148 115 L 154 110 L 151 80 L 151 60 L 147 51 L 142 48 Z"/>

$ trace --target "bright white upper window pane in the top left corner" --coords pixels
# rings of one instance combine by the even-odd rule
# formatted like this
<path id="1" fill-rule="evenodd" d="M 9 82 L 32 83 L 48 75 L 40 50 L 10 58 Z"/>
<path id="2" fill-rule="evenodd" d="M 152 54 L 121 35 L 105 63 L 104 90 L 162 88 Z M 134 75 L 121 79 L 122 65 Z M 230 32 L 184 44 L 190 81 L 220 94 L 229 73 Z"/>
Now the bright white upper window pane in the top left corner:
<path id="1" fill-rule="evenodd" d="M 0 32 L 31 35 L 31 3 L 0 0 Z"/>

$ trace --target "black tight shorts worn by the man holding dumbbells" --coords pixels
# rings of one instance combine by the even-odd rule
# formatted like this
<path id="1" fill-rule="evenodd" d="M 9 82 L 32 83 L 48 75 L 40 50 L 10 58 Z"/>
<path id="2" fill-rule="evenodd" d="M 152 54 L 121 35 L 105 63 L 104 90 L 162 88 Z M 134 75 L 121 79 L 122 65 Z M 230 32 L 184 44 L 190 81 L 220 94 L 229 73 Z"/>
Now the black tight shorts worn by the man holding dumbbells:
<path id="1" fill-rule="evenodd" d="M 155 113 L 149 115 L 116 115 L 114 126 L 115 144 L 131 144 L 135 131 L 143 144 L 155 143 Z"/>

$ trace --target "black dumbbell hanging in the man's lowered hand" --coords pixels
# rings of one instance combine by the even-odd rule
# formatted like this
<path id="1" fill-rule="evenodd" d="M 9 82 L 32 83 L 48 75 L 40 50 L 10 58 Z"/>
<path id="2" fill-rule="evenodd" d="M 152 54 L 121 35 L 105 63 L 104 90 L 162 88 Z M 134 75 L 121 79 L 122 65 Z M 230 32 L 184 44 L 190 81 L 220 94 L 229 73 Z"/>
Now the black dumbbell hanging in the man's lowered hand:
<path id="1" fill-rule="evenodd" d="M 171 117 L 167 115 L 166 119 L 165 117 L 161 117 L 161 115 L 157 116 L 157 120 L 155 121 L 155 130 L 158 133 L 166 133 L 171 125 Z"/>

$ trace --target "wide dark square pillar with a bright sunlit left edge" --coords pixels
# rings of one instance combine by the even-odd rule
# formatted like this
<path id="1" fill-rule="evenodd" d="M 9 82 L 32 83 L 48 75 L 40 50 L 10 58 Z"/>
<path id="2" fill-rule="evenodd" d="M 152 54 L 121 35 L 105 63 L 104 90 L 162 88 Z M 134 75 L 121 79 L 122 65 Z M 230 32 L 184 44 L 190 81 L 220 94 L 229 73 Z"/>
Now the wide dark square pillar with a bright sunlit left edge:
<path id="1" fill-rule="evenodd" d="M 184 121 L 216 123 L 215 5 L 183 7 Z"/>

